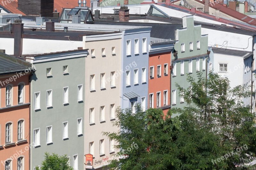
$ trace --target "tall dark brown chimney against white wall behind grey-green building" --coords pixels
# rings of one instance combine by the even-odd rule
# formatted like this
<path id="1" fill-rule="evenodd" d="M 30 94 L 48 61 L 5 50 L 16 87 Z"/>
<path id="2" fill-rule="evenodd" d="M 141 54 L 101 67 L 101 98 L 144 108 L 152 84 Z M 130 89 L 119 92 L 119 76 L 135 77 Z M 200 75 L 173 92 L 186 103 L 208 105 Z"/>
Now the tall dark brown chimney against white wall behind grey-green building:
<path id="1" fill-rule="evenodd" d="M 12 33 L 14 33 L 14 51 L 13 55 L 20 57 L 22 55 L 22 34 L 23 34 L 23 23 L 13 23 Z"/>

